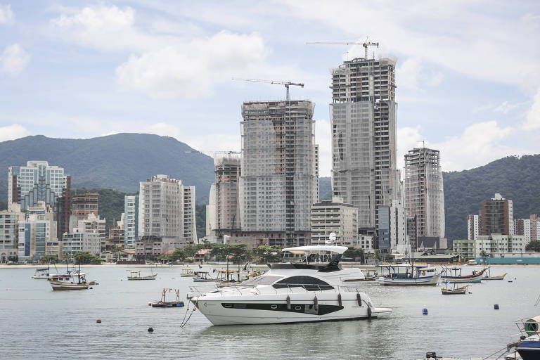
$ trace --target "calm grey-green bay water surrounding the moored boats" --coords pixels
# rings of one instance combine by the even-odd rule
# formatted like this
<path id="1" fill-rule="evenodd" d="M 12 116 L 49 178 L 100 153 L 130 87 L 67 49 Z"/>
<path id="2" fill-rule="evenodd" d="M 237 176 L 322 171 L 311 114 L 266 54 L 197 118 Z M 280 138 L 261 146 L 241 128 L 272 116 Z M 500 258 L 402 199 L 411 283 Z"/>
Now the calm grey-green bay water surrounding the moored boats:
<path id="1" fill-rule="evenodd" d="M 508 272 L 504 281 L 473 284 L 468 295 L 443 296 L 439 286 L 365 285 L 376 306 L 394 309 L 385 319 L 211 326 L 195 311 L 180 328 L 185 308 L 148 302 L 158 300 L 162 288 L 179 288 L 185 297 L 193 281 L 180 277 L 181 267 L 158 268 L 155 281 L 127 281 L 126 269 L 134 268 L 85 268 L 100 285 L 57 292 L 30 278 L 34 269 L 0 269 L 0 358 L 422 359 L 428 351 L 482 357 L 518 340 L 513 321 L 540 314 L 534 307 L 540 267 L 499 267 L 493 272 Z"/>

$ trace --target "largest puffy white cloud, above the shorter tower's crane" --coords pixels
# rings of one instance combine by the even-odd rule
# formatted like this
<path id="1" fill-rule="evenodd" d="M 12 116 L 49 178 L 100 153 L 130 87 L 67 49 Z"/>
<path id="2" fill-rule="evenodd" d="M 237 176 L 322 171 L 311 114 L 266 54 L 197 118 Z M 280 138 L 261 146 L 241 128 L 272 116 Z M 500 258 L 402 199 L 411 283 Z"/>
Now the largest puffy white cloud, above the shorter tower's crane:
<path id="1" fill-rule="evenodd" d="M 265 56 L 259 34 L 222 31 L 183 46 L 130 56 L 116 69 L 116 76 L 122 89 L 142 91 L 153 97 L 210 96 L 215 84 L 263 65 Z"/>

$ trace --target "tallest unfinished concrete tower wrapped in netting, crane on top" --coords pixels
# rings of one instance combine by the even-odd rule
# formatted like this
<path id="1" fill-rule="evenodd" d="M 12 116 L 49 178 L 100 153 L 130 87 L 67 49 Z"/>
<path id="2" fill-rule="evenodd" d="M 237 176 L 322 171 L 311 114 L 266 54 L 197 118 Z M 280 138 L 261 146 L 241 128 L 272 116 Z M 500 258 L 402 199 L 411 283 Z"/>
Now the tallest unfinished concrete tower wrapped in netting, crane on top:
<path id="1" fill-rule="evenodd" d="M 359 233 L 378 236 L 378 207 L 398 198 L 394 69 L 355 58 L 332 73 L 332 193 L 358 208 Z"/>

